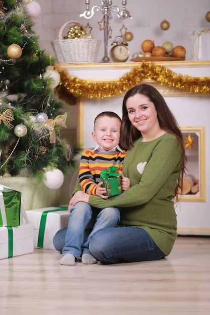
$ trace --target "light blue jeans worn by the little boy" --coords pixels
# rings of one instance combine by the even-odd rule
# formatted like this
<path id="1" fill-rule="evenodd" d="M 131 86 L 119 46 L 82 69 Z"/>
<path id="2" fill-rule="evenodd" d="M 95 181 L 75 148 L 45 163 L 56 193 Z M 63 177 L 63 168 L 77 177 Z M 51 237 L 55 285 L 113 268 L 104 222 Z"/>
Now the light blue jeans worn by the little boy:
<path id="1" fill-rule="evenodd" d="M 69 215 L 62 254 L 72 254 L 77 259 L 81 254 L 91 255 L 89 243 L 93 234 L 99 229 L 116 226 L 119 221 L 120 211 L 117 208 L 92 209 L 89 204 L 78 202 Z M 86 228 L 92 228 L 88 235 L 85 235 Z"/>

